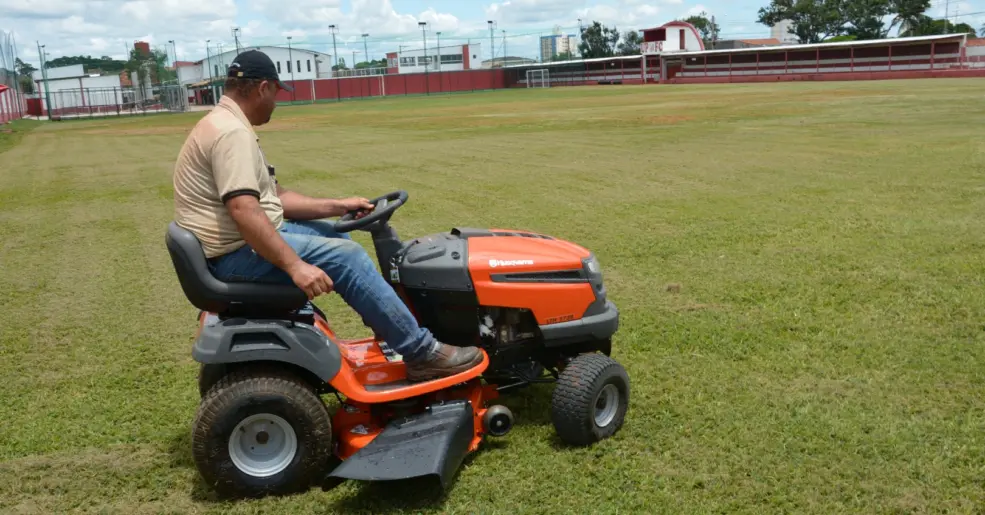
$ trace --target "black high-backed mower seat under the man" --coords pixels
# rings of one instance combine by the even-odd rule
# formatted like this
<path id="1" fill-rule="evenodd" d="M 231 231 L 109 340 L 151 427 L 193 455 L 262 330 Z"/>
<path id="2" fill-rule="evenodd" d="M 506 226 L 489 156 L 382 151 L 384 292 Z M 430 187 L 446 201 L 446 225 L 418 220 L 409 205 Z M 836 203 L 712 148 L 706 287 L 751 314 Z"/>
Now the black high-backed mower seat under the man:
<path id="1" fill-rule="evenodd" d="M 212 313 L 291 313 L 308 303 L 300 288 L 261 283 L 227 283 L 209 270 L 202 243 L 175 222 L 165 237 L 171 262 L 185 296 L 196 308 Z"/>

